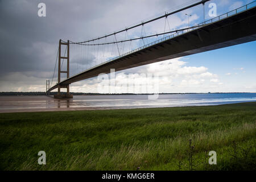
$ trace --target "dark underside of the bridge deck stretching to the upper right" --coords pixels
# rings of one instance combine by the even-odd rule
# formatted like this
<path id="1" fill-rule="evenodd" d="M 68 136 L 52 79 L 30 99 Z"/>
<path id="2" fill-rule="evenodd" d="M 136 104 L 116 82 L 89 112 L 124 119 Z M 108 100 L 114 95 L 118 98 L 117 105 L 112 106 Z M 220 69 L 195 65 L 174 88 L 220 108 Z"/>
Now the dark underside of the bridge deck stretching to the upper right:
<path id="1" fill-rule="evenodd" d="M 85 80 L 98 76 L 100 73 L 110 73 L 110 69 L 121 71 L 123 69 L 139 67 L 141 65 L 156 63 L 158 61 L 174 59 L 176 57 L 193 55 L 195 53 L 234 46 L 256 40 L 256 8 L 229 16 L 218 22 L 207 24 L 197 30 L 168 39 L 154 46 L 123 56 L 88 69 L 76 76 L 60 82 L 61 86 L 72 82 Z M 220 65 L 221 66 L 221 65 Z M 56 89 L 57 85 L 53 86 Z"/>

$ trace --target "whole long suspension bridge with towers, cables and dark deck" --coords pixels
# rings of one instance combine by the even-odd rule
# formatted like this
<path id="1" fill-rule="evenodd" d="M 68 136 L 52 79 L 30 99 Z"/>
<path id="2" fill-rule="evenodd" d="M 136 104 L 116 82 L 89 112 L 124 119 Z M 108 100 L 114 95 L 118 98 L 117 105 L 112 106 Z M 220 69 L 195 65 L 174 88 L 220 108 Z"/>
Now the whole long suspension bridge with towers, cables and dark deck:
<path id="1" fill-rule="evenodd" d="M 186 5 L 154 19 L 84 42 L 60 40 L 55 63 L 57 82 L 52 85 L 54 71 L 51 84 L 49 80 L 46 82 L 46 94 L 58 89 L 55 98 L 72 98 L 69 93 L 70 84 L 96 77 L 100 73 L 110 73 L 110 69 L 122 71 L 256 40 L 256 1 L 205 20 L 204 5 L 208 1 L 210 0 Z M 168 17 L 199 5 L 203 5 L 202 23 L 189 26 L 188 22 L 187 27 L 170 27 Z M 146 31 L 147 24 L 160 19 L 164 22 L 163 32 L 153 34 Z M 140 32 L 141 36 L 134 36 L 136 32 L 137 35 Z M 61 73 L 65 74 L 63 80 Z M 67 89 L 67 93 L 61 94 L 61 88 Z"/>

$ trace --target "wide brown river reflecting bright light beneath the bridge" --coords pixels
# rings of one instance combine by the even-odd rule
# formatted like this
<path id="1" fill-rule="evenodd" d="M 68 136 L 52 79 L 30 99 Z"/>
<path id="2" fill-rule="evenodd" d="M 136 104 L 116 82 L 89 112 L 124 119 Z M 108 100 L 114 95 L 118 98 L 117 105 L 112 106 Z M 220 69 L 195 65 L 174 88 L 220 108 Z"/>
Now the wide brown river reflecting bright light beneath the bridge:
<path id="1" fill-rule="evenodd" d="M 256 93 L 159 94 L 155 100 L 148 100 L 147 95 L 73 96 L 69 100 L 47 96 L 0 96 L 0 113 L 203 106 L 239 102 L 256 102 Z"/>

